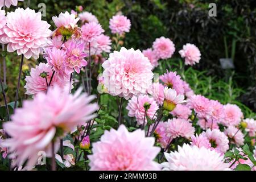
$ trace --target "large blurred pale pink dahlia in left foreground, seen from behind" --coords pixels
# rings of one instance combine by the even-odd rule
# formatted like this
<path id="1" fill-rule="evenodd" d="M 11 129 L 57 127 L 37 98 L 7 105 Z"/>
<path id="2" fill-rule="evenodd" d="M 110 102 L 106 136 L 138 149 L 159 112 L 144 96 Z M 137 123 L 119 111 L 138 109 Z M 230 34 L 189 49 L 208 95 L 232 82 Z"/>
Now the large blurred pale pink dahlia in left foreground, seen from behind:
<path id="1" fill-rule="evenodd" d="M 24 101 L 23 107 L 15 110 L 11 121 L 3 125 L 11 137 L 5 140 L 5 146 L 15 164 L 22 165 L 28 159 L 27 166 L 34 166 L 38 152 L 48 151 L 53 138 L 63 137 L 95 117 L 98 106 L 90 104 L 94 96 L 80 94 L 81 90 L 72 95 L 55 86 L 47 94 L 39 93 L 34 100 Z"/>

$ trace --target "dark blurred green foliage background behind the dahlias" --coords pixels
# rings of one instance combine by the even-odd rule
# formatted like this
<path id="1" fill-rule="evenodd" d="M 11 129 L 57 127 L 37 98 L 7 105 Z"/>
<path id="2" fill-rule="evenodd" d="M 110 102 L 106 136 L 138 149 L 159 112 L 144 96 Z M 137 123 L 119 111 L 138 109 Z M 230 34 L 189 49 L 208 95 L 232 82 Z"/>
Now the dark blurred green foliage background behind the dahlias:
<path id="1" fill-rule="evenodd" d="M 20 2 L 27 7 L 28 0 Z M 208 15 L 209 3 L 217 4 L 217 16 Z M 46 4 L 45 20 L 65 10 L 82 5 L 97 16 L 110 35 L 109 19 L 118 11 L 131 19 L 132 27 L 126 34 L 125 47 L 146 49 L 160 36 L 171 38 L 176 46 L 174 57 L 179 57 L 185 43 L 199 47 L 202 58 L 193 68 L 180 64 L 179 59 L 163 61 L 156 72 L 179 68 L 180 74 L 196 93 L 221 102 L 233 102 L 251 114 L 256 111 L 256 2 L 254 0 L 32 0 L 29 7 L 39 10 Z M 226 40 L 226 44 L 225 41 Z M 232 57 L 235 68 L 221 69 L 220 58 Z M 8 84 L 15 85 L 19 57 L 7 60 Z M 28 64 L 33 64 L 27 62 Z M 14 66 L 16 64 L 16 66 Z M 182 65 L 182 66 L 181 66 Z M 25 67 L 26 69 L 26 67 Z M 9 86 L 10 92 L 11 89 Z M 24 90 L 23 90 L 24 91 Z M 11 96 L 14 95 L 10 93 Z M 105 99 L 104 102 L 108 102 Z M 243 104 L 241 104 L 241 102 Z M 250 108 L 250 109 L 249 109 Z M 115 109 L 115 108 L 113 108 Z"/>

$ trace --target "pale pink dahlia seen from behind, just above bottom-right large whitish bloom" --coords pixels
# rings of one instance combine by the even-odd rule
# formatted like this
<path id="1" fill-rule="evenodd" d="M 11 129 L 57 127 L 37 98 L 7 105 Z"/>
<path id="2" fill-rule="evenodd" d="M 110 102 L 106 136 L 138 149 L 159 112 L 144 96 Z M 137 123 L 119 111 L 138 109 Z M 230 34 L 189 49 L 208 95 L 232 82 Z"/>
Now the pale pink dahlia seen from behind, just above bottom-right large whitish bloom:
<path id="1" fill-rule="evenodd" d="M 211 146 L 217 152 L 220 152 L 221 154 L 224 154 L 226 151 L 229 150 L 229 139 L 220 130 L 217 130 L 217 129 L 210 130 L 210 129 L 208 129 L 207 131 L 204 131 L 201 135 L 208 138 L 208 140 L 210 141 Z"/>

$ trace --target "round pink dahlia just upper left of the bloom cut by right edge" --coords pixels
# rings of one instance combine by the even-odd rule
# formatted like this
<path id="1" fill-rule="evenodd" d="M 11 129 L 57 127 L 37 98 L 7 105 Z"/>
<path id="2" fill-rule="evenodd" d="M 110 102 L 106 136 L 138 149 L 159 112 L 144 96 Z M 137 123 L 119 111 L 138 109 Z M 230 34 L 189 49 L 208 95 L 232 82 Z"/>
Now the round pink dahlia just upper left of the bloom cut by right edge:
<path id="1" fill-rule="evenodd" d="M 227 104 L 224 106 L 225 118 L 222 121 L 222 124 L 225 126 L 237 126 L 243 118 L 242 110 L 234 104 Z"/>

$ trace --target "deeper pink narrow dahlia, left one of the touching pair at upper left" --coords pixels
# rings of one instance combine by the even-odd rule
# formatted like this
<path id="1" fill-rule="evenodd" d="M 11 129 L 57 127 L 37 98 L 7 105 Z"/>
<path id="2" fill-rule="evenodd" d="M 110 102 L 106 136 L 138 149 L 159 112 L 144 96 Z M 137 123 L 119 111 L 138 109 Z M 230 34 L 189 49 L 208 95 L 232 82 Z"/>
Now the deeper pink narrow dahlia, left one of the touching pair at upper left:
<path id="1" fill-rule="evenodd" d="M 53 47 L 52 49 L 47 48 L 46 53 L 46 60 L 48 64 L 52 66 L 53 70 L 56 71 L 56 75 L 61 79 L 68 77 L 68 74 L 65 72 L 66 52 L 63 49 Z"/>

